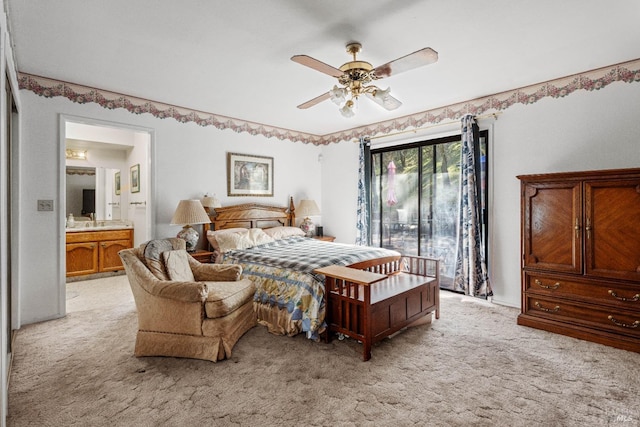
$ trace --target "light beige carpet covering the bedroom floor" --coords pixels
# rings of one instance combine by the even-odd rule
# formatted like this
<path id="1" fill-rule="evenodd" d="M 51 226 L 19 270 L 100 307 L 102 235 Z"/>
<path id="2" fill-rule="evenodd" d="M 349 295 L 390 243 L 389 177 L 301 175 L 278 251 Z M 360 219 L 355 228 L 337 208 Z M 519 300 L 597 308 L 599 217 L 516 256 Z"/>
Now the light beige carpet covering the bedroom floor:
<path id="1" fill-rule="evenodd" d="M 640 425 L 640 354 L 516 325 L 441 292 L 374 345 L 250 330 L 230 360 L 136 358 L 126 276 L 67 285 L 66 318 L 16 338 L 9 426 Z"/>

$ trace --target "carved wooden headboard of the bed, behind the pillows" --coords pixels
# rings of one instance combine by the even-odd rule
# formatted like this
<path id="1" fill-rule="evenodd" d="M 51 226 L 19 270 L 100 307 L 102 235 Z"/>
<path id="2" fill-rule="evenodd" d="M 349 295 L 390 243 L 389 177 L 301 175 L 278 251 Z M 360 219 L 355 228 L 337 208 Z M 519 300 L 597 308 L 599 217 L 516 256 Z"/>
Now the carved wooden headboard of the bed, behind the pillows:
<path id="1" fill-rule="evenodd" d="M 295 226 L 295 206 L 293 197 L 289 206 L 270 206 L 259 203 L 245 203 L 243 205 L 224 206 L 215 208 L 209 214 L 211 224 L 204 224 L 204 232 L 208 230 L 223 230 L 225 228 L 269 228 L 280 225 Z"/>

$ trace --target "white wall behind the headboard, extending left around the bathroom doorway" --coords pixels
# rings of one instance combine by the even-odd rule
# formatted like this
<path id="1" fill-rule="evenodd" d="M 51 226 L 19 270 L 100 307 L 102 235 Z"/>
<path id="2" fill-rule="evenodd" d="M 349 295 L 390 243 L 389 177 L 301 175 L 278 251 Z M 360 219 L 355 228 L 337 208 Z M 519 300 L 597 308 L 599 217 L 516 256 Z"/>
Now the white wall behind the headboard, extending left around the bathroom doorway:
<path id="1" fill-rule="evenodd" d="M 321 198 L 320 148 L 313 145 L 266 139 L 172 119 L 134 115 L 125 110 L 107 110 L 95 104 L 74 104 L 64 98 L 43 98 L 22 90 L 22 140 L 20 153 L 19 256 L 30 260 L 21 265 L 22 324 L 64 315 L 64 284 L 60 257 L 64 243 L 64 189 L 60 187 L 64 146 L 60 146 L 59 115 L 86 117 L 152 131 L 151 165 L 154 192 L 147 197 L 152 209 L 152 237 L 174 236 L 179 226 L 170 225 L 181 199 L 215 193 L 223 206 L 261 202 L 285 206 L 290 196 Z M 226 153 L 247 153 L 274 158 L 273 197 L 228 197 Z M 133 161 L 131 162 L 133 164 Z M 64 166 L 62 166 L 64 167 Z M 141 164 L 141 175 L 147 168 Z M 128 169 L 123 170 L 123 178 Z M 145 178 L 146 179 L 146 178 Z M 142 189 L 149 188 L 141 182 Z M 123 187 L 124 191 L 124 187 Z M 131 195 L 133 199 L 133 195 Z M 53 199 L 54 212 L 37 212 L 38 199 Z M 38 260 L 34 262 L 33 260 Z M 64 263 L 62 263 L 64 265 Z"/>

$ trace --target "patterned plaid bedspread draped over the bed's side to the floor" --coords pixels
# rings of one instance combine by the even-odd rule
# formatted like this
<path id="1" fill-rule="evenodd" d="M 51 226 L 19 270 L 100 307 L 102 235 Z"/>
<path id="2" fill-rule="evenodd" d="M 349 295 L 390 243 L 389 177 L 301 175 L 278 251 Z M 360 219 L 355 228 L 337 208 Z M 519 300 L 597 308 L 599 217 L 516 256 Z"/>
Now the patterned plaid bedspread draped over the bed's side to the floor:
<path id="1" fill-rule="evenodd" d="M 243 274 L 256 284 L 255 302 L 287 310 L 294 323 L 289 334 L 305 332 L 307 338 L 318 339 L 325 328 L 324 276 L 313 270 L 394 255 L 400 254 L 384 248 L 291 237 L 229 251 L 222 262 L 242 265 Z"/>

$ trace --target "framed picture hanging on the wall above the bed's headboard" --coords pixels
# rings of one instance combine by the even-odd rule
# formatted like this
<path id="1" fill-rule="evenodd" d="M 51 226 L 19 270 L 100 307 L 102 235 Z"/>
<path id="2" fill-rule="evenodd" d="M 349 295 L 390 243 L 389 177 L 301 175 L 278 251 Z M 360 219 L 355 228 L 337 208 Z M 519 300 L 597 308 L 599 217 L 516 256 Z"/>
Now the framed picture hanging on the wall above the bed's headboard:
<path id="1" fill-rule="evenodd" d="M 273 157 L 227 153 L 227 196 L 273 196 Z"/>

